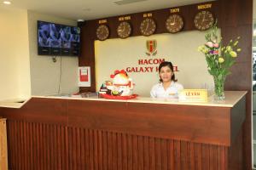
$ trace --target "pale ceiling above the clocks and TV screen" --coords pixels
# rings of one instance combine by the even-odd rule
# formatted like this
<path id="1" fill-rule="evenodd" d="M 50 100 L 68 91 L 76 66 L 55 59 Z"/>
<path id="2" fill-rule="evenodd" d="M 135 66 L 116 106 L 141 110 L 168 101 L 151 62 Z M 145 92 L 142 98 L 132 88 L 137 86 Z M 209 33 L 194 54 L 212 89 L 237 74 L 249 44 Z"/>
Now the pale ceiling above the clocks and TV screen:
<path id="1" fill-rule="evenodd" d="M 1 0 L 3 1 L 3 0 Z M 8 8 L 24 8 L 39 13 L 53 14 L 72 20 L 94 20 L 109 16 L 132 14 L 160 8 L 186 4 L 210 2 L 212 0 L 10 0 Z M 140 2 L 137 2 L 140 1 Z M 133 3 L 131 3 L 133 2 Z M 6 6 L 0 3 L 0 8 Z M 4 7 L 7 8 L 7 7 Z"/>

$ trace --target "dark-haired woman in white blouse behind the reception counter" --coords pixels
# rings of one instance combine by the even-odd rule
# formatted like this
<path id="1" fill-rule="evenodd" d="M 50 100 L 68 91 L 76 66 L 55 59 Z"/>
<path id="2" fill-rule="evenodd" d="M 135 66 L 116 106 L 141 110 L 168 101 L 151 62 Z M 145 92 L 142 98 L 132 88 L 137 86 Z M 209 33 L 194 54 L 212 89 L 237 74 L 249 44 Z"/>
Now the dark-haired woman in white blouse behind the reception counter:
<path id="1" fill-rule="evenodd" d="M 183 85 L 177 83 L 175 79 L 173 65 L 164 61 L 159 65 L 160 83 L 155 84 L 150 91 L 152 98 L 177 98 L 179 91 L 183 90 Z"/>

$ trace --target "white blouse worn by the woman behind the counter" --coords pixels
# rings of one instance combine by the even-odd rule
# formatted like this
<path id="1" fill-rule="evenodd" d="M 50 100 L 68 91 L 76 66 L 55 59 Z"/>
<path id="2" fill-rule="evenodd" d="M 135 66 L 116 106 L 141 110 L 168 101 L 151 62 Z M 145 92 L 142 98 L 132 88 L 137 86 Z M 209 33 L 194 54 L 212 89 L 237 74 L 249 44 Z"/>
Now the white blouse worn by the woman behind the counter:
<path id="1" fill-rule="evenodd" d="M 183 85 L 177 82 L 171 82 L 168 88 L 163 87 L 162 82 L 155 84 L 150 91 L 150 96 L 152 98 L 177 98 L 179 91 L 183 90 Z"/>

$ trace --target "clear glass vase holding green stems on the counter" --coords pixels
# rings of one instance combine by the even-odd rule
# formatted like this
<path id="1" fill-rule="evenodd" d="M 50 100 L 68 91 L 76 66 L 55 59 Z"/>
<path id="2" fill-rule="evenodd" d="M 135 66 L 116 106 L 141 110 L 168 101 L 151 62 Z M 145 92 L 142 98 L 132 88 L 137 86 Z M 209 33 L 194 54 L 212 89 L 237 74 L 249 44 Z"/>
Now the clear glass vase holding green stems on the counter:
<path id="1" fill-rule="evenodd" d="M 223 101 L 225 99 L 224 96 L 224 82 L 225 77 L 219 75 L 218 77 L 213 77 L 214 80 L 214 100 L 215 101 Z"/>

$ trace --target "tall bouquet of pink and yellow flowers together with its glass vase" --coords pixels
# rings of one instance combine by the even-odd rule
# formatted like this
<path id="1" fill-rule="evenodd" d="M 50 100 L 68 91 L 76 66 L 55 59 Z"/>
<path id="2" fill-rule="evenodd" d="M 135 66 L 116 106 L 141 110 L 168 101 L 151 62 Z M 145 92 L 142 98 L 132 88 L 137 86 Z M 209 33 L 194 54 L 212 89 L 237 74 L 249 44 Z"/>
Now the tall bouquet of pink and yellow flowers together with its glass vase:
<path id="1" fill-rule="evenodd" d="M 217 22 L 205 37 L 207 42 L 198 50 L 206 56 L 208 72 L 214 81 L 215 99 L 222 100 L 224 99 L 225 78 L 231 74 L 230 67 L 235 64 L 237 54 L 241 52 L 241 48 L 237 47 L 240 37 L 237 37 L 235 41 L 230 40 L 224 46 L 222 38 L 218 37 Z"/>

